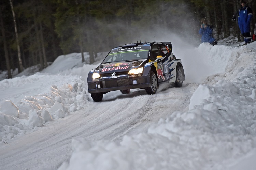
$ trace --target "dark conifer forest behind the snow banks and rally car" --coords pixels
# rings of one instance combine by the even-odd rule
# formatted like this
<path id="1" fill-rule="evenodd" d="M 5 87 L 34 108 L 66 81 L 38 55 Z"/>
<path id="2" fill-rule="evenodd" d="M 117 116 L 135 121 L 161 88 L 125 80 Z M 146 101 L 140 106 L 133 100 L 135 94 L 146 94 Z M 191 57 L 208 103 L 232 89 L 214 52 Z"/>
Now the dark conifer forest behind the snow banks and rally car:
<path id="1" fill-rule="evenodd" d="M 247 5 L 253 10 L 253 33 L 256 1 L 247 0 Z M 239 8 L 239 0 L 1 0 L 0 71 L 8 70 L 11 78 L 16 68 L 43 69 L 73 52 L 82 53 L 81 62 L 89 64 L 98 52 L 140 38 L 161 41 L 159 34 L 170 32 L 196 46 L 201 18 L 214 26 L 217 40 L 234 36 L 243 41 L 231 20 Z"/>

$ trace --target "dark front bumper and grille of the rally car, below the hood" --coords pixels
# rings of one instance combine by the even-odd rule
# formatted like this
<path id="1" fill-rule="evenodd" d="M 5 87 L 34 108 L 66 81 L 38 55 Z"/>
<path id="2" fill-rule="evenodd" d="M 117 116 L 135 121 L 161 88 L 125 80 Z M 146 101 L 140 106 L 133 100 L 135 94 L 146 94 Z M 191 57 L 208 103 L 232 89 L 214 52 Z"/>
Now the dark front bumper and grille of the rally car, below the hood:
<path id="1" fill-rule="evenodd" d="M 88 92 L 89 93 L 101 93 L 110 92 L 115 90 L 137 89 L 150 87 L 150 76 L 143 74 L 142 76 L 129 77 L 131 75 L 123 75 L 116 78 L 104 78 L 99 79 L 88 78 Z"/>

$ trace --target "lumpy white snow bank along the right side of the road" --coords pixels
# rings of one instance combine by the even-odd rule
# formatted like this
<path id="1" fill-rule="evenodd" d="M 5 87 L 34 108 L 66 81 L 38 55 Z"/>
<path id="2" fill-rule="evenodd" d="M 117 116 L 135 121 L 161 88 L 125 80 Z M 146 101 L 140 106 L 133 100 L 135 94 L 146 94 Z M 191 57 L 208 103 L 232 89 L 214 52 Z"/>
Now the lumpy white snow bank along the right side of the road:
<path id="1" fill-rule="evenodd" d="M 73 139 L 70 161 L 59 170 L 224 170 L 255 149 L 255 50 L 207 44 L 196 50 L 208 54 L 209 70 L 217 69 L 195 91 L 187 112 L 174 112 L 122 141 Z"/>

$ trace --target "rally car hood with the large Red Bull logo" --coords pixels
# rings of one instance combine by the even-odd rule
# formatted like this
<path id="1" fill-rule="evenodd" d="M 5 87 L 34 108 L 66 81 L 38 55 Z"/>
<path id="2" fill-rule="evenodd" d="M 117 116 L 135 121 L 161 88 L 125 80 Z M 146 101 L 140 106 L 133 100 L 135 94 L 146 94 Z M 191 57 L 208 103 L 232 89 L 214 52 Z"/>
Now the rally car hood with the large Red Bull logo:
<path id="1" fill-rule="evenodd" d="M 112 73 L 112 72 L 127 72 L 133 68 L 139 67 L 146 59 L 142 60 L 129 60 L 129 61 L 119 61 L 112 63 L 103 63 L 96 69 L 99 70 L 100 74 Z"/>

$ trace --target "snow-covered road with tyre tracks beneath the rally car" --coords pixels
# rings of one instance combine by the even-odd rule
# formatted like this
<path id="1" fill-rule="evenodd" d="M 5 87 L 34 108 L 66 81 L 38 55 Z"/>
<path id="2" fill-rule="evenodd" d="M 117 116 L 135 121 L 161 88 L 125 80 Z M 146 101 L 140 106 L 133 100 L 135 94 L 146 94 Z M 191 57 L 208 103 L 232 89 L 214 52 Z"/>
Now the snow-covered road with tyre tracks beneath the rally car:
<path id="1" fill-rule="evenodd" d="M 160 118 L 187 111 L 197 86 L 158 89 L 155 95 L 147 95 L 143 89 L 125 95 L 107 93 L 103 102 L 89 101 L 82 110 L 3 145 L 0 169 L 57 169 L 71 156 L 72 138 L 120 141 L 124 135 L 146 132 Z"/>

